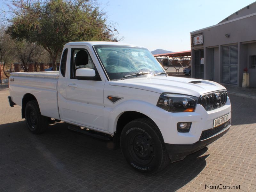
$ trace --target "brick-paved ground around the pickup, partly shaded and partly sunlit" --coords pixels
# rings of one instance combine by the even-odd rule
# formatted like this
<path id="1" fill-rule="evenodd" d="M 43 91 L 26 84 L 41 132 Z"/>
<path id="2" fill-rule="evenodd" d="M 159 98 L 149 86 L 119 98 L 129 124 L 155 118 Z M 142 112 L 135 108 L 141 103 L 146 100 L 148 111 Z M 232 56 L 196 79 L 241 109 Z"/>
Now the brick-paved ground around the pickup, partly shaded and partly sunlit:
<path id="1" fill-rule="evenodd" d="M 133 171 L 111 143 L 71 132 L 65 123 L 32 134 L 21 108 L 9 107 L 8 95 L 0 86 L 0 191 L 256 191 L 255 99 L 229 94 L 232 127 L 227 134 L 145 176 Z"/>

